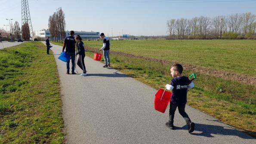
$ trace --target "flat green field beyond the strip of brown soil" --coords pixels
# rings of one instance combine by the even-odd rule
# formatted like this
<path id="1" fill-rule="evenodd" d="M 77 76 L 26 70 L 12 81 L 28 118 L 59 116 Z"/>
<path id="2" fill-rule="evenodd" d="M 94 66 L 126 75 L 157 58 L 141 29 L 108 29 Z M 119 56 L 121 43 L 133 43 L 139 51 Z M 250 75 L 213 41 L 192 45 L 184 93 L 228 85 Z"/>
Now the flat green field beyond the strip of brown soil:
<path id="1" fill-rule="evenodd" d="M 111 50 L 256 76 L 256 40 L 120 40 L 111 41 Z"/>

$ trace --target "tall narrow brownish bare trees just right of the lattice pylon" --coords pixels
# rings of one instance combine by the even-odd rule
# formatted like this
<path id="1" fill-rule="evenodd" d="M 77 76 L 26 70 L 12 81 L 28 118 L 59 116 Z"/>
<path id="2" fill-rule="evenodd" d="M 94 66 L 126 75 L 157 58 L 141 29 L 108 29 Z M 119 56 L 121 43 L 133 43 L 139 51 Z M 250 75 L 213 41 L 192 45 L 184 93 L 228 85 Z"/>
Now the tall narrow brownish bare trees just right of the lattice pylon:
<path id="1" fill-rule="evenodd" d="M 61 7 L 53 15 L 50 15 L 48 27 L 53 41 L 62 42 L 63 38 L 66 37 L 65 14 Z"/>

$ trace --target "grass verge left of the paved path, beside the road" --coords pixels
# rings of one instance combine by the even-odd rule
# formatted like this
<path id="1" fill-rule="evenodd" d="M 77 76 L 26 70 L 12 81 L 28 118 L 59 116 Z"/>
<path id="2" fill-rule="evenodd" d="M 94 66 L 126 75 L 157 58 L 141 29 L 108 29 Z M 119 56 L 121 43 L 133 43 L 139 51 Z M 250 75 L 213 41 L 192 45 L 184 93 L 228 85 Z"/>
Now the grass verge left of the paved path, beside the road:
<path id="1" fill-rule="evenodd" d="M 41 42 L 0 50 L 0 144 L 62 144 L 56 63 Z"/>

